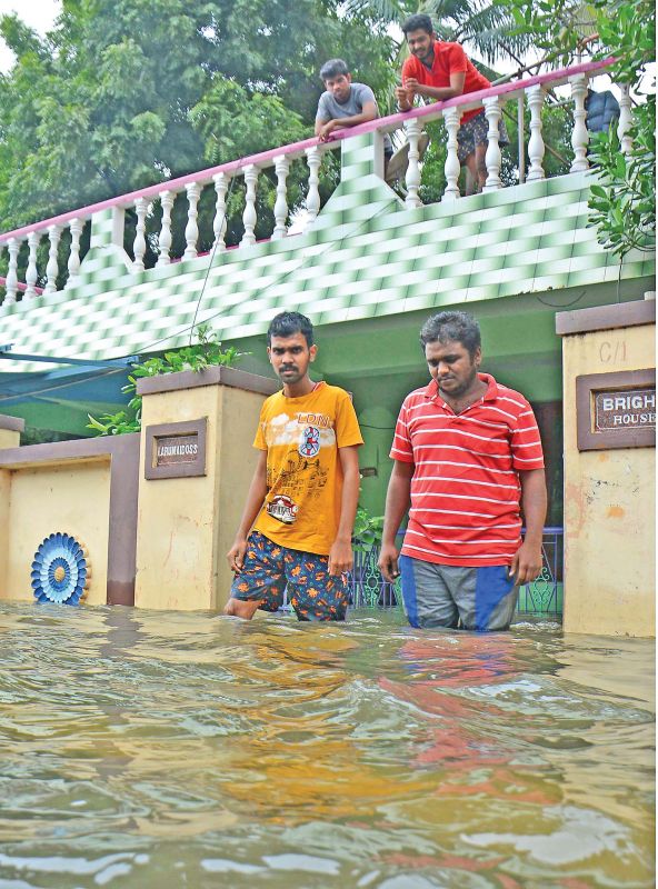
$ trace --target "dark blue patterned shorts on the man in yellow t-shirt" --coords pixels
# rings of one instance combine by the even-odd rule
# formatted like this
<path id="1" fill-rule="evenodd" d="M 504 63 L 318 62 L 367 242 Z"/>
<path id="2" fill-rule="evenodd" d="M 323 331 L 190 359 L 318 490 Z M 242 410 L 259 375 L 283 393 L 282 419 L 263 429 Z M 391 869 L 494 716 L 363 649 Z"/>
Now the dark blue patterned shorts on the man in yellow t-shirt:
<path id="1" fill-rule="evenodd" d="M 245 565 L 231 583 L 231 597 L 259 601 L 263 611 L 278 611 L 288 601 L 299 620 L 345 620 L 348 603 L 345 577 L 328 571 L 328 557 L 273 543 L 260 531 L 247 540 Z"/>

